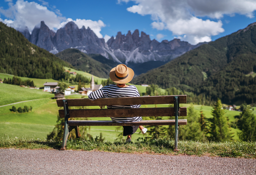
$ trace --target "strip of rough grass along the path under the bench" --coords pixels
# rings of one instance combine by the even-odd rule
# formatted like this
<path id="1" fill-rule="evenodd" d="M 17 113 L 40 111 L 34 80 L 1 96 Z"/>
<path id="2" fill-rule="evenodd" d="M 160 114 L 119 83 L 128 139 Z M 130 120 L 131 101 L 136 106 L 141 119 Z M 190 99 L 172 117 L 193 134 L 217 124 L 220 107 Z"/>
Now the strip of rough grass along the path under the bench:
<path id="1" fill-rule="evenodd" d="M 0 148 L 60 149 L 62 141 L 42 140 L 34 137 L 1 137 Z M 67 140 L 67 150 L 105 151 L 132 154 L 167 154 L 190 156 L 219 156 L 232 158 L 256 158 L 256 142 L 196 142 L 179 141 L 179 151 L 174 152 L 174 140 L 138 138 L 131 143 L 115 140 L 100 142 L 91 140 Z"/>

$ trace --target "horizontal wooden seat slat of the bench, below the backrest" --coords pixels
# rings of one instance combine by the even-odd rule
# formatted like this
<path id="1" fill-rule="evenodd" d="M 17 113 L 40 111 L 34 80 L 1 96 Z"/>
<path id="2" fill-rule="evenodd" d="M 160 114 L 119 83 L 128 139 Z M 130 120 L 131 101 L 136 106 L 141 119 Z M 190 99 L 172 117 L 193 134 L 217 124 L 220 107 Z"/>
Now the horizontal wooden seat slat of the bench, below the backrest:
<path id="1" fill-rule="evenodd" d="M 64 122 L 61 123 L 64 126 Z M 175 125 L 175 120 L 141 120 L 139 122 L 116 123 L 111 120 L 69 120 L 69 126 L 155 126 Z M 178 125 L 187 125 L 187 120 L 178 120 Z"/>

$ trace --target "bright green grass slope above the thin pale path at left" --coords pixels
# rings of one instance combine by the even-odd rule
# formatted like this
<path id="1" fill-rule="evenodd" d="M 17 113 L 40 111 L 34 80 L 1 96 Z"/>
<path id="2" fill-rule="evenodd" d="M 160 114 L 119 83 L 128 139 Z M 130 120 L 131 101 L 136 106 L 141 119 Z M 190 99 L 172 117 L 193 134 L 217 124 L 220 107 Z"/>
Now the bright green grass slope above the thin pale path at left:
<path id="1" fill-rule="evenodd" d="M 54 97 L 54 94 L 49 92 L 5 83 L 1 83 L 0 89 L 0 106 L 26 100 Z"/>

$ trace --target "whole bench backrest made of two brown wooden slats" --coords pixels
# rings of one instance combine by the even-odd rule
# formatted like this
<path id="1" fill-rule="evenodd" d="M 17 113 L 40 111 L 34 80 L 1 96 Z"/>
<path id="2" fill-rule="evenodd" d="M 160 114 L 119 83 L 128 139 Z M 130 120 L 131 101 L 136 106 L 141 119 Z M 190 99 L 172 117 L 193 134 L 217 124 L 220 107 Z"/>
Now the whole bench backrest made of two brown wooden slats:
<path id="1" fill-rule="evenodd" d="M 178 104 L 187 103 L 187 95 L 177 96 L 148 96 L 148 97 L 122 97 L 89 99 L 66 99 L 66 108 L 71 106 L 113 106 L 113 105 L 148 105 L 148 104 L 174 104 L 175 98 Z M 57 100 L 59 107 L 63 107 L 63 99 Z M 179 107 L 179 106 L 178 106 Z M 108 109 L 69 109 L 69 117 L 148 117 L 148 116 L 175 116 L 174 107 L 167 108 L 121 108 Z M 178 116 L 187 116 L 187 107 L 179 107 Z M 60 118 L 64 118 L 64 110 L 59 110 Z"/>

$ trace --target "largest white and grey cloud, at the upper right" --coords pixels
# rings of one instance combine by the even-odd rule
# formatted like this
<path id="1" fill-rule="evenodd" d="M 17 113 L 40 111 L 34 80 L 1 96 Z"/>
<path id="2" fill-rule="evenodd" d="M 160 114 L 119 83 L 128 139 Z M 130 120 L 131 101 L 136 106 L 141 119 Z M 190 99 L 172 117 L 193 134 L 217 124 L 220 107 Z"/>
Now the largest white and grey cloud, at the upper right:
<path id="1" fill-rule="evenodd" d="M 128 0 L 119 0 L 119 2 Z M 223 15 L 254 17 L 256 1 L 252 0 L 130 0 L 137 5 L 127 11 L 151 15 L 152 28 L 168 29 L 178 38 L 192 44 L 211 41 L 211 36 L 224 32 Z M 208 17 L 203 20 L 201 17 Z M 215 19 L 215 20 L 214 20 Z M 185 38 L 184 38 L 185 35 Z"/>

